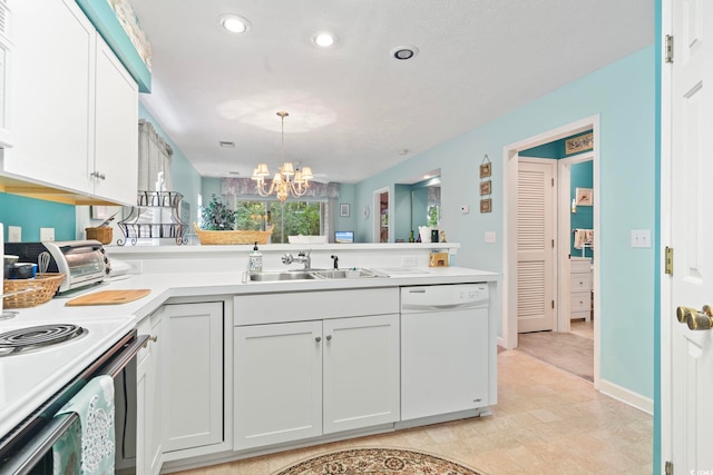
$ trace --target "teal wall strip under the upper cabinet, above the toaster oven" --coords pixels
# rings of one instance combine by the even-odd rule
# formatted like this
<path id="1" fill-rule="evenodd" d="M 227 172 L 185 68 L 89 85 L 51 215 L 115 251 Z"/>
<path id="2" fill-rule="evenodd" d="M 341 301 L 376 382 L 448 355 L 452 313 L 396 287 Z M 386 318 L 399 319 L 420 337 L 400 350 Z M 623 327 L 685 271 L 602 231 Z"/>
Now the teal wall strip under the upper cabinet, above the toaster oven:
<path id="1" fill-rule="evenodd" d="M 72 240 L 75 236 L 75 206 L 22 196 L 0 194 L 0 222 L 22 228 L 22 241 L 40 240 L 40 228 L 55 228 L 55 240 Z"/>

